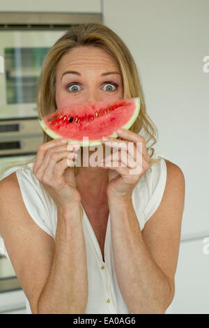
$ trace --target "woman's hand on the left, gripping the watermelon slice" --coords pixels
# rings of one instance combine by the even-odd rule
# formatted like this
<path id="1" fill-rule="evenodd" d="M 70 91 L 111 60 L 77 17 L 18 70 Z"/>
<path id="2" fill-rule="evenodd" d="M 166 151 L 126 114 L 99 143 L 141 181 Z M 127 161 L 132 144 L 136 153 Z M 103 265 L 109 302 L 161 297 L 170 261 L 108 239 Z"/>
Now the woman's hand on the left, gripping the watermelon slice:
<path id="1" fill-rule="evenodd" d="M 52 196 L 56 205 L 65 208 L 70 207 L 72 203 L 81 201 L 81 195 L 77 191 L 75 174 L 70 167 L 72 158 L 77 158 L 74 151 L 79 149 L 79 145 L 72 149 L 72 144 L 68 144 L 67 141 L 62 142 L 62 140 L 65 139 L 58 138 L 40 144 L 36 162 L 33 165 L 33 172 Z M 68 158 L 69 155 L 70 158 Z"/>

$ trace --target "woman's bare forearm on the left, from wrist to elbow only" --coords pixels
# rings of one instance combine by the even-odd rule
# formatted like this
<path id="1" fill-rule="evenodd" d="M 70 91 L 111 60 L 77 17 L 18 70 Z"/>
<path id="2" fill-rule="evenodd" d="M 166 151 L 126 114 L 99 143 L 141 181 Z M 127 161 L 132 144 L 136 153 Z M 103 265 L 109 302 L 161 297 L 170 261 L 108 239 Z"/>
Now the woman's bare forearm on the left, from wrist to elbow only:
<path id="1" fill-rule="evenodd" d="M 88 298 L 86 267 L 79 206 L 58 209 L 54 260 L 40 295 L 38 313 L 85 313 Z"/>

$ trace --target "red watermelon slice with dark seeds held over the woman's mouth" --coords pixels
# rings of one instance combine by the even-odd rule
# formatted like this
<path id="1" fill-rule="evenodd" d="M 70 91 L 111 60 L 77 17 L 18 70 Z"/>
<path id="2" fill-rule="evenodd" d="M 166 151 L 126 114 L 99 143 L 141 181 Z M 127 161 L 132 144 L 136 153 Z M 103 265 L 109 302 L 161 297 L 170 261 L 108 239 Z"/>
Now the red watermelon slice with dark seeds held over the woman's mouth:
<path id="1" fill-rule="evenodd" d="M 140 98 L 114 102 L 76 103 L 38 120 L 42 129 L 56 139 L 65 137 L 81 147 L 102 144 L 102 136 L 118 137 L 118 128 L 129 129 L 140 110 Z M 83 137 L 88 137 L 83 140 Z"/>

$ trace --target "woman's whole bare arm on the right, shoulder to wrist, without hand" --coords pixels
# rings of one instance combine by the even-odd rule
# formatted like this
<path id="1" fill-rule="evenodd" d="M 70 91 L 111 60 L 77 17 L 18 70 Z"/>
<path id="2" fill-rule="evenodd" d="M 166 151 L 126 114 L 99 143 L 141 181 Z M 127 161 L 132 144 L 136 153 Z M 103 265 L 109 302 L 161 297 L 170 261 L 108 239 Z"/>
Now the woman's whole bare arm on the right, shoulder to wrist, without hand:
<path id="1" fill-rule="evenodd" d="M 166 163 L 164 195 L 144 230 L 132 199 L 109 200 L 116 276 L 131 313 L 165 313 L 173 300 L 185 179 L 177 165 Z"/>

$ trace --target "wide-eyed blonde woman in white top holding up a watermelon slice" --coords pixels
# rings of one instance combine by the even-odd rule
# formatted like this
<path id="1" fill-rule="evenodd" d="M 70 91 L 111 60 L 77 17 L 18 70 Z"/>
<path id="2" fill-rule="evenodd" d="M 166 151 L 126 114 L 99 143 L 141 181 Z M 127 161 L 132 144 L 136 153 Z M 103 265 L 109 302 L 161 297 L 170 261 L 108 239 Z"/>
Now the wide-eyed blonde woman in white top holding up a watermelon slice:
<path id="1" fill-rule="evenodd" d="M 177 165 L 148 154 L 155 128 L 123 41 L 101 24 L 69 29 L 42 65 L 37 104 L 44 117 L 69 103 L 137 96 L 137 121 L 101 151 L 105 142 L 141 143 L 139 174 L 121 167 L 122 151 L 117 167 L 111 158 L 72 167 L 79 147 L 44 135 L 35 163 L 3 175 L 1 252 L 31 313 L 165 313 L 171 304 L 185 180 Z"/>

